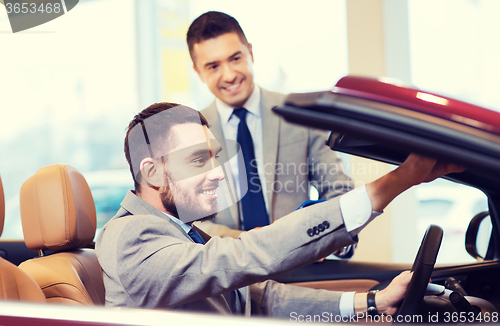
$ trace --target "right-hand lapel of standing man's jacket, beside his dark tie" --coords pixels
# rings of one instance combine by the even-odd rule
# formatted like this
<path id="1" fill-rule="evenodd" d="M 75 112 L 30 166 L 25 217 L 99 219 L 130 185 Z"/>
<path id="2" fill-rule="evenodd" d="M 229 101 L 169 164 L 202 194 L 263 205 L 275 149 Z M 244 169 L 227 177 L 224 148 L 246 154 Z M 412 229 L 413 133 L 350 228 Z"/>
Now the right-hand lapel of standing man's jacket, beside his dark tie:
<path id="1" fill-rule="evenodd" d="M 273 216 L 273 195 L 272 189 L 274 184 L 274 169 L 278 159 L 278 144 L 280 133 L 280 118 L 274 114 L 271 109 L 277 105 L 276 99 L 273 98 L 272 93 L 261 88 L 261 109 L 262 109 L 262 142 L 264 147 L 264 166 L 266 168 L 266 188 L 267 198 L 269 203 L 269 214 L 271 222 L 274 221 Z"/>

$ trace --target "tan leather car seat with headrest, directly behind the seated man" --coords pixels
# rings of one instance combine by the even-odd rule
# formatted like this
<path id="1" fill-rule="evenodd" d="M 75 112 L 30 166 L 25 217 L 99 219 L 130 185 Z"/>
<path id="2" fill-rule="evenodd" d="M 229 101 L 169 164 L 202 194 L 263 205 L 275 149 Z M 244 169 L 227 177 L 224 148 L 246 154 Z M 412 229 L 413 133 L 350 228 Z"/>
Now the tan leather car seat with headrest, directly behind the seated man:
<path id="1" fill-rule="evenodd" d="M 96 212 L 83 175 L 65 164 L 40 168 L 22 185 L 20 201 L 26 246 L 40 257 L 19 267 L 48 302 L 104 305 L 101 268 L 86 248 L 93 244 Z"/>

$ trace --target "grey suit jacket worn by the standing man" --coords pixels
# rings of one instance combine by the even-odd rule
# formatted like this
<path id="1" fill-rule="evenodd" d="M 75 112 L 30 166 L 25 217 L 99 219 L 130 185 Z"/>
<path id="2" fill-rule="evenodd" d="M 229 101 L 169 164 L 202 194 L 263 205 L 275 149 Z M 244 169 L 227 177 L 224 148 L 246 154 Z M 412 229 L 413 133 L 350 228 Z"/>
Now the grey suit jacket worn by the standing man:
<path id="1" fill-rule="evenodd" d="M 320 199 L 329 199 L 353 189 L 352 180 L 342 169 L 339 157 L 325 141 L 329 133 L 304 128 L 286 122 L 271 109 L 283 103 L 285 95 L 261 88 L 262 130 L 267 197 L 271 223 L 296 210 L 309 199 L 309 183 L 318 189 Z M 207 118 L 214 137 L 223 148 L 224 133 L 215 101 L 201 111 Z M 227 156 L 222 156 L 227 161 Z M 229 170 L 229 168 L 227 168 Z M 228 171 L 229 172 L 229 171 Z M 227 173 L 230 174 L 230 173 Z M 234 184 L 231 184 L 234 188 Z M 241 231 L 239 203 L 221 211 L 215 223 L 196 223 L 196 226 L 214 236 L 237 238 Z"/>

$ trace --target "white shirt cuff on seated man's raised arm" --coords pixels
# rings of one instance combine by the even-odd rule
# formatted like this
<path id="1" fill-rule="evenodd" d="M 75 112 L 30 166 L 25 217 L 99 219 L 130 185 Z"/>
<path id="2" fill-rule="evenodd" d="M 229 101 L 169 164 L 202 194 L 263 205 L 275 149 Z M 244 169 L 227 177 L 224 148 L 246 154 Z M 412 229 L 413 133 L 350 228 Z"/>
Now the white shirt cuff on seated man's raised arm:
<path id="1" fill-rule="evenodd" d="M 372 211 L 372 203 L 365 185 L 340 197 L 340 211 L 345 228 L 351 236 L 356 236 L 371 220 L 382 214 Z"/>

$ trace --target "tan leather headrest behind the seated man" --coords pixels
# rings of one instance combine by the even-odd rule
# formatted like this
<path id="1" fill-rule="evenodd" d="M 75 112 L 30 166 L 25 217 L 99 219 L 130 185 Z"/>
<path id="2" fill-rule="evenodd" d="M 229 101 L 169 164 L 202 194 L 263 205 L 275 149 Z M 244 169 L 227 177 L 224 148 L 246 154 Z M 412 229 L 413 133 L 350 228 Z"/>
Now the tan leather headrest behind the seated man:
<path id="1" fill-rule="evenodd" d="M 42 167 L 21 186 L 21 221 L 30 250 L 68 250 L 92 243 L 96 211 L 83 175 L 66 164 Z"/>

